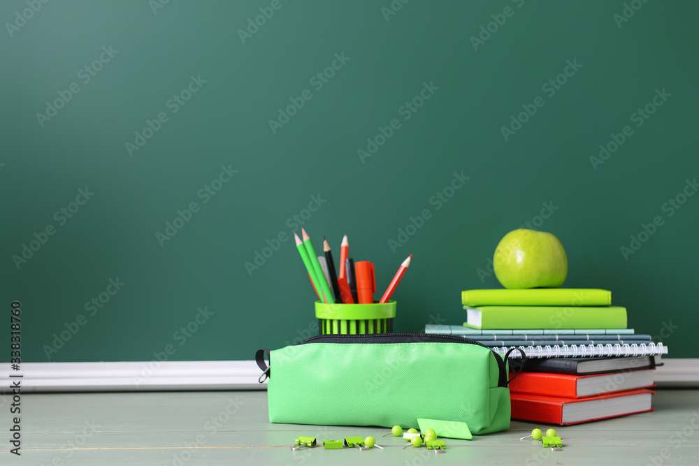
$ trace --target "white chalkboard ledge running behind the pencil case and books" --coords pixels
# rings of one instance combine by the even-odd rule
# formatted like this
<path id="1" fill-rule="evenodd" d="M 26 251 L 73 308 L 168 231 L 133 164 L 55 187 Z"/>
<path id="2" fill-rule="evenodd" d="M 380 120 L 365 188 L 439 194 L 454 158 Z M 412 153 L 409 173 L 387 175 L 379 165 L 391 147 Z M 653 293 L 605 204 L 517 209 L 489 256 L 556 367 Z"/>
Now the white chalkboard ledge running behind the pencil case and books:
<path id="1" fill-rule="evenodd" d="M 699 386 L 699 358 L 663 358 L 658 387 Z M 23 377 L 10 377 L 22 375 Z M 8 363 L 0 379 L 20 380 L 22 392 L 265 390 L 254 361 L 150 361 L 128 363 Z M 8 384 L 9 385 L 9 384 Z M 10 393 L 3 388 L 1 393 Z"/>

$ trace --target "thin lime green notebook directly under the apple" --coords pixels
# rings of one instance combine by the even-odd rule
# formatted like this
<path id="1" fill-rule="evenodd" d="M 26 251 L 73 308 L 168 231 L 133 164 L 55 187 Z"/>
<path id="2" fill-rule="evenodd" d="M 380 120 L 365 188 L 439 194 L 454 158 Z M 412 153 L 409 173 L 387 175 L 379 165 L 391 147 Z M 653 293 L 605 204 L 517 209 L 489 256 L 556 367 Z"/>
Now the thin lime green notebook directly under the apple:
<path id="1" fill-rule="evenodd" d="M 533 288 L 461 291 L 461 304 L 477 306 L 609 306 L 612 292 L 600 289 Z"/>

